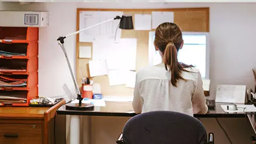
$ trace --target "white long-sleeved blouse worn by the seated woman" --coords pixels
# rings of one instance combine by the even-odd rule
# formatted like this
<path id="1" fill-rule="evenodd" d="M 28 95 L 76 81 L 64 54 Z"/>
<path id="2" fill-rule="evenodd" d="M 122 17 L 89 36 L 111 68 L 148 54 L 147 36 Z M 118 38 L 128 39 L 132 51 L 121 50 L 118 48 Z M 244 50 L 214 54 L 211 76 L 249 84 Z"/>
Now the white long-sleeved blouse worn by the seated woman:
<path id="1" fill-rule="evenodd" d="M 208 107 L 199 70 L 186 68 L 182 71 L 177 87 L 171 84 L 171 73 L 164 64 L 146 67 L 138 71 L 134 88 L 133 109 L 135 113 L 154 110 L 178 111 L 193 116 L 206 114 Z"/>

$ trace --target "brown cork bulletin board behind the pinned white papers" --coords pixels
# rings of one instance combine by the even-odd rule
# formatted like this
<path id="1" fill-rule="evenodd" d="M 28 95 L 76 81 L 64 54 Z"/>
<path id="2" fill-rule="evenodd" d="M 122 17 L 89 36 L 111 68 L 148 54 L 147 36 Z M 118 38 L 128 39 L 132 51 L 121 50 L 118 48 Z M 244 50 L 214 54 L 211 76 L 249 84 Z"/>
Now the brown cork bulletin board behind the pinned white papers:
<path id="1" fill-rule="evenodd" d="M 153 11 L 171 11 L 174 12 L 174 22 L 182 28 L 182 31 L 209 32 L 208 7 L 186 9 L 77 9 L 77 30 L 79 30 L 79 13 L 81 11 L 123 11 L 124 14 L 132 14 L 133 16 L 134 14 L 151 14 Z M 122 30 L 121 38 L 137 38 L 137 70 L 148 66 L 149 31 L 150 30 Z M 84 77 L 90 76 L 88 73 L 88 62 L 91 59 L 79 58 L 80 46 L 92 47 L 92 43 L 79 42 L 79 35 L 76 36 L 76 78 L 78 85 L 82 86 L 81 72 Z M 103 95 L 133 95 L 133 89 L 127 88 L 125 85 L 109 86 L 108 76 L 97 76 L 91 79 L 94 83 L 100 84 Z"/>

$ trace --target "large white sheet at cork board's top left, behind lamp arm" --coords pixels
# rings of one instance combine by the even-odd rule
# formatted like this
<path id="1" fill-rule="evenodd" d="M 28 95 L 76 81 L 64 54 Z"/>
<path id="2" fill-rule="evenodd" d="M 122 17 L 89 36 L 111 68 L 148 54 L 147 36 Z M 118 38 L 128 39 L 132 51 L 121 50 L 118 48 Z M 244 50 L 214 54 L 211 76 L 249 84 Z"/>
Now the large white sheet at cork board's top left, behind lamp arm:
<path id="1" fill-rule="evenodd" d="M 115 18 L 117 15 L 122 16 L 121 11 L 82 11 L 79 14 L 79 30 L 89 28 L 100 22 Z M 117 38 L 121 37 L 121 29 L 117 28 L 120 20 L 113 20 L 101 25 L 84 30 L 79 34 L 79 42 L 93 42 L 95 36 L 105 35 L 114 39 L 116 29 Z"/>

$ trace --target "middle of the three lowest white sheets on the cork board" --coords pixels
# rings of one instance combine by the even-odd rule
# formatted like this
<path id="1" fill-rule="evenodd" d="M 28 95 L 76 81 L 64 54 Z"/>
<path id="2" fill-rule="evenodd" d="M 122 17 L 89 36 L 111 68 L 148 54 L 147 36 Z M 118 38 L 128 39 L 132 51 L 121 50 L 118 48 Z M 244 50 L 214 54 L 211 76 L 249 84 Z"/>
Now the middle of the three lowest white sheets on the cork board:
<path id="1" fill-rule="evenodd" d="M 109 86 L 124 85 L 125 78 L 126 78 L 125 74 L 126 74 L 125 70 L 109 70 L 109 73 L 108 73 Z"/>

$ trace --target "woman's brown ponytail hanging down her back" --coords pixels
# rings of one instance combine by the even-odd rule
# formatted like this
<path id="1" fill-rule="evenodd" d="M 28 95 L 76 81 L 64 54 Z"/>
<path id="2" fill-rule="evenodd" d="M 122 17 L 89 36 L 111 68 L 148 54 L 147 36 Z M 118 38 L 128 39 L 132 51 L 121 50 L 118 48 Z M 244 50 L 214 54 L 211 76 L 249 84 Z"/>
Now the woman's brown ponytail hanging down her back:
<path id="1" fill-rule="evenodd" d="M 183 79 L 181 76 L 181 71 L 183 70 L 182 65 L 178 62 L 177 58 L 178 52 L 173 42 L 169 42 L 164 51 L 164 66 L 165 69 L 171 73 L 171 83 L 173 86 L 177 87 L 177 82 L 179 79 Z M 168 69 L 169 68 L 169 69 Z"/>

